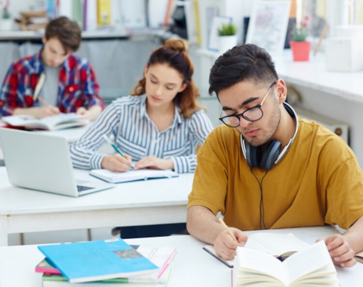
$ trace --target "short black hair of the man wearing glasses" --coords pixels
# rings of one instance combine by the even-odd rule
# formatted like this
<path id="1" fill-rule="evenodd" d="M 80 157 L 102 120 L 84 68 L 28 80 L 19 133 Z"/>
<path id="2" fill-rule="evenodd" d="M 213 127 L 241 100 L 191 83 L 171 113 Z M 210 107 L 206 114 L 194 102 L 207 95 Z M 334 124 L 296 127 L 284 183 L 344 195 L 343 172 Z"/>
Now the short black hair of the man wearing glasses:
<path id="1" fill-rule="evenodd" d="M 272 58 L 265 49 L 245 44 L 235 46 L 219 56 L 209 75 L 209 94 L 218 96 L 226 89 L 245 80 L 271 84 L 278 79 Z"/>

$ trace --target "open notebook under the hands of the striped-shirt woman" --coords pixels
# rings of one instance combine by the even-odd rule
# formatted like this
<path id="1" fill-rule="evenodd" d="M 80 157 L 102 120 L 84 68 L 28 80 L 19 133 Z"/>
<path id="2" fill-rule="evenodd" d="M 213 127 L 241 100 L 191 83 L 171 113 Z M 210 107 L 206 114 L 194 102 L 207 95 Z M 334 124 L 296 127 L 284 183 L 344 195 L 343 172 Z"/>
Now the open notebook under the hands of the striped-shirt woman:
<path id="1" fill-rule="evenodd" d="M 172 178 L 179 176 L 178 173 L 170 169 L 167 170 L 138 169 L 138 170 L 128 170 L 125 172 L 113 172 L 108 169 L 91 169 L 90 174 L 101 180 L 112 183 L 141 181 L 148 179 Z"/>

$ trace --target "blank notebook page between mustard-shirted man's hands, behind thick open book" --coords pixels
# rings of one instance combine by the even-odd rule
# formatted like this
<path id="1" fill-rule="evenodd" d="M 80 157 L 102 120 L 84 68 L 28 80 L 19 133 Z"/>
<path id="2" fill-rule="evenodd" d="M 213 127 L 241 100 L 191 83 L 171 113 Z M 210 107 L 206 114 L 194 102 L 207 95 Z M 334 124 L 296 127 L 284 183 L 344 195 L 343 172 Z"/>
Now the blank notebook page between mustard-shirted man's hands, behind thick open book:
<path id="1" fill-rule="evenodd" d="M 261 245 L 263 247 L 260 247 Z M 247 248 L 264 251 L 273 256 L 280 256 L 290 251 L 301 251 L 309 246 L 309 243 L 302 241 L 291 233 L 280 234 L 270 232 L 258 232 L 250 235 L 245 245 Z"/>

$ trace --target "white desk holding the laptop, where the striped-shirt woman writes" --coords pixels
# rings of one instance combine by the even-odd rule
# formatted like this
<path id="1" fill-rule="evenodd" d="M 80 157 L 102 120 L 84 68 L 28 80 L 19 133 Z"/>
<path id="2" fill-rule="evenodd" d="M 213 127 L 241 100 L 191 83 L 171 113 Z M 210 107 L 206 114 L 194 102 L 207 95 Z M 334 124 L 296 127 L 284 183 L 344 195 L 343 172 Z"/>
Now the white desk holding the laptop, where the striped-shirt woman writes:
<path id="1" fill-rule="evenodd" d="M 87 170 L 75 172 L 97 181 Z M 0 246 L 9 233 L 185 222 L 193 177 L 119 183 L 75 198 L 15 187 L 0 167 Z"/>

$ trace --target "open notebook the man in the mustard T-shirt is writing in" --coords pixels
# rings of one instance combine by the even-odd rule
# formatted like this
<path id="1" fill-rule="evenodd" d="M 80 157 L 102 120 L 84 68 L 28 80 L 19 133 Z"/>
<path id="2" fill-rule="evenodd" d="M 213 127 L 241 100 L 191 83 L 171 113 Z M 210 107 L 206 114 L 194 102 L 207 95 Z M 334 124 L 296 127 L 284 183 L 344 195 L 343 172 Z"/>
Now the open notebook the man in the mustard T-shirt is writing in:
<path id="1" fill-rule="evenodd" d="M 257 232 L 248 236 L 245 248 L 258 250 L 266 254 L 272 255 L 283 261 L 293 253 L 301 251 L 309 247 L 310 244 L 302 241 L 291 233 L 265 233 Z M 234 260 L 224 260 L 215 254 L 213 245 L 205 245 L 203 249 L 222 261 L 228 267 L 233 267 Z"/>

